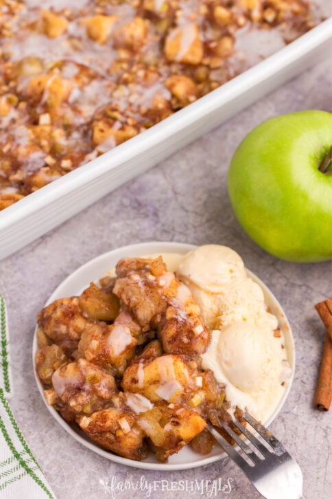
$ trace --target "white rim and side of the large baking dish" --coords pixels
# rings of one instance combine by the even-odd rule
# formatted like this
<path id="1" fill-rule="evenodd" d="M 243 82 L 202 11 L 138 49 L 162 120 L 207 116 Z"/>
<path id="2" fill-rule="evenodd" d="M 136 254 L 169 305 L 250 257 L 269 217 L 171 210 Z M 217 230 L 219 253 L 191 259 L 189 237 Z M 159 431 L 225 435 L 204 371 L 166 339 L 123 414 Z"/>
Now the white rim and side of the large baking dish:
<path id="1" fill-rule="evenodd" d="M 228 120 L 318 61 L 332 18 L 222 87 L 0 212 L 0 258 L 27 245 L 132 177 Z"/>

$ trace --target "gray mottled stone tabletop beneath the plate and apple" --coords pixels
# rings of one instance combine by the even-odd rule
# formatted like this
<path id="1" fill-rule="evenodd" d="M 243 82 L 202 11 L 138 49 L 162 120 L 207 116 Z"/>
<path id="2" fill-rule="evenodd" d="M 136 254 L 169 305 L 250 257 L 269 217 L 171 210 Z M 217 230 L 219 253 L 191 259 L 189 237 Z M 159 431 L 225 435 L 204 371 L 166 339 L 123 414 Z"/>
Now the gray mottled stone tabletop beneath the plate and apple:
<path id="1" fill-rule="evenodd" d="M 0 263 L 0 290 L 8 306 L 14 369 L 11 406 L 58 499 L 112 497 L 105 494 L 100 479 L 116 476 L 134 484 L 142 475 L 150 483 L 169 480 L 169 489 L 171 481 L 221 478 L 226 483 L 231 478 L 231 490 L 220 491 L 217 497 L 259 497 L 228 459 L 187 472 L 142 472 L 107 461 L 72 440 L 40 398 L 32 371 L 32 335 L 36 314 L 47 297 L 91 258 L 121 245 L 153 240 L 229 245 L 281 301 L 295 335 L 296 374 L 287 402 L 271 428 L 303 469 L 305 498 L 332 497 L 332 411 L 322 414 L 313 409 L 324 339 L 313 304 L 331 294 L 331 265 L 296 265 L 266 254 L 241 230 L 226 189 L 230 158 L 254 126 L 289 111 L 331 111 L 329 71 L 329 63 L 321 63 L 305 72 Z M 147 491 L 116 491 L 115 497 L 133 494 L 142 499 Z M 150 497 L 209 495 L 159 489 Z"/>

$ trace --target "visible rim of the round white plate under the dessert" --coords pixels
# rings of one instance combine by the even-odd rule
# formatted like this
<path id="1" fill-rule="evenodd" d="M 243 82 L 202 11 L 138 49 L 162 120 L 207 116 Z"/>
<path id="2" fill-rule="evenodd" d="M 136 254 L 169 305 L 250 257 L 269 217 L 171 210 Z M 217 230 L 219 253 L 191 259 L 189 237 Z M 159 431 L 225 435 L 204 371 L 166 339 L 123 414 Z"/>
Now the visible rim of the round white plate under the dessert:
<path id="1" fill-rule="evenodd" d="M 120 258 L 124 256 L 144 256 L 147 254 L 155 254 L 155 253 L 180 253 L 186 254 L 191 249 L 193 249 L 193 245 L 184 244 L 184 243 L 139 243 L 130 246 L 124 246 L 119 249 L 113 249 L 108 253 L 104 253 L 97 258 L 93 258 L 88 263 L 85 263 L 79 269 L 75 270 L 73 274 L 64 279 L 60 286 L 56 288 L 54 293 L 51 294 L 49 299 L 46 302 L 46 305 L 54 302 L 54 300 L 58 300 L 58 298 L 64 298 L 66 296 L 73 296 L 82 293 L 83 289 L 85 289 L 91 281 L 97 281 L 106 271 L 112 269 L 117 264 Z M 289 364 L 292 367 L 292 379 L 289 380 L 289 384 L 287 386 L 287 390 L 285 390 L 285 394 L 283 395 L 283 399 L 280 401 L 278 407 L 269 421 L 266 423 L 270 424 L 278 412 L 283 407 L 285 400 L 287 398 L 290 386 L 294 377 L 294 367 L 295 367 L 295 351 L 294 351 L 294 341 L 292 331 L 289 326 L 289 322 L 281 308 L 281 305 L 278 303 L 278 300 L 274 297 L 271 291 L 257 278 L 252 272 L 248 271 L 248 275 L 262 287 L 263 293 L 265 296 L 265 302 L 270 307 L 272 313 L 276 315 L 278 319 L 278 324 L 285 335 L 285 346 L 287 349 L 287 357 L 289 359 Z M 33 363 L 34 363 L 34 375 L 36 378 L 36 383 L 38 385 L 38 389 L 40 391 L 40 395 L 43 397 L 43 401 L 47 406 L 51 415 L 58 421 L 58 423 L 66 430 L 75 440 L 82 443 L 88 449 L 93 450 L 93 452 L 97 452 L 100 456 L 104 456 L 110 461 L 115 461 L 116 463 L 121 463 L 123 465 L 132 466 L 136 468 L 143 469 L 161 469 L 161 470 L 172 470 L 172 469 L 189 469 L 202 465 L 208 465 L 210 463 L 214 463 L 222 458 L 224 458 L 225 454 L 220 450 L 218 445 L 213 447 L 213 450 L 210 454 L 206 456 L 202 456 L 201 454 L 197 454 L 193 452 L 191 448 L 187 445 L 184 449 L 182 449 L 178 454 L 171 456 L 169 458 L 168 463 L 158 463 L 154 454 L 150 454 L 145 461 L 132 461 L 130 459 L 126 459 L 116 454 L 112 454 L 112 452 L 108 452 L 102 447 L 99 447 L 96 443 L 88 439 L 88 436 L 79 428 L 75 423 L 67 423 L 62 419 L 60 414 L 51 406 L 47 405 L 47 402 L 44 397 L 44 389 L 42 384 L 40 383 L 38 376 L 36 375 L 36 366 L 35 366 L 35 355 L 37 351 L 37 337 L 36 337 L 37 327 L 34 333 L 34 342 L 32 346 L 32 355 L 33 355 Z"/>

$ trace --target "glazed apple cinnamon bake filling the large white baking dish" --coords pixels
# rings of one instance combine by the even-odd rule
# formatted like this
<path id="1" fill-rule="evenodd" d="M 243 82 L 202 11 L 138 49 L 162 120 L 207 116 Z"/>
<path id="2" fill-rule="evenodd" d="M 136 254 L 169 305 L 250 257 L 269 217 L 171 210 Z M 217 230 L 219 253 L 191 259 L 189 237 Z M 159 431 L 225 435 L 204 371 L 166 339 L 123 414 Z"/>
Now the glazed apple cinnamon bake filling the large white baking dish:
<path id="1" fill-rule="evenodd" d="M 320 23 L 304 0 L 1 1 L 0 210 Z"/>

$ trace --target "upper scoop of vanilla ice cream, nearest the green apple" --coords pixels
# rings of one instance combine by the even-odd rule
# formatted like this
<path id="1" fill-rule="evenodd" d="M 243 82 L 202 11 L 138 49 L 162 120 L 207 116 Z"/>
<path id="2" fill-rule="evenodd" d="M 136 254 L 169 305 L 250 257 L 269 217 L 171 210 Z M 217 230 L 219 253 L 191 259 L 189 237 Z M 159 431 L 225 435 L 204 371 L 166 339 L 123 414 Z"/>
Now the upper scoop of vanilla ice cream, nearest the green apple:
<path id="1" fill-rule="evenodd" d="M 244 262 L 233 249 L 204 245 L 193 249 L 176 270 L 200 307 L 211 329 L 231 322 L 250 322 L 276 329 L 278 322 L 266 311 L 261 287 L 247 276 Z"/>

